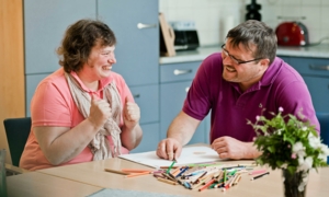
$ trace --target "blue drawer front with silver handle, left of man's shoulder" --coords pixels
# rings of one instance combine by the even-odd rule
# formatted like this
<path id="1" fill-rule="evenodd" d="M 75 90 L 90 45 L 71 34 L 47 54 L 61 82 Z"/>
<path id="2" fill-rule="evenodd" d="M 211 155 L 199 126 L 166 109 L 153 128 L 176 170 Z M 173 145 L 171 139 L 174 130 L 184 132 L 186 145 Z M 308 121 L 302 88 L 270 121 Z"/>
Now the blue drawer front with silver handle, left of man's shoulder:
<path id="1" fill-rule="evenodd" d="M 174 82 L 174 81 L 192 80 L 200 65 L 201 61 L 161 65 L 160 81 Z"/>

